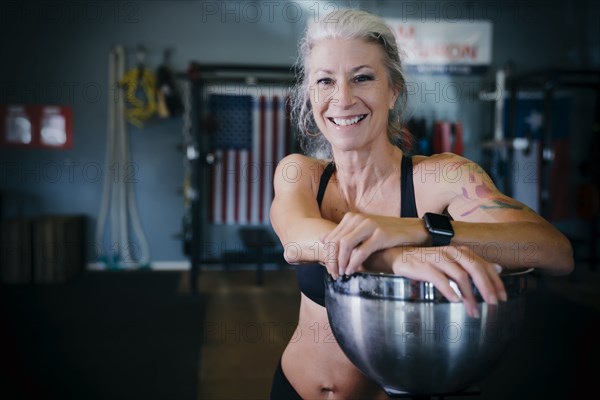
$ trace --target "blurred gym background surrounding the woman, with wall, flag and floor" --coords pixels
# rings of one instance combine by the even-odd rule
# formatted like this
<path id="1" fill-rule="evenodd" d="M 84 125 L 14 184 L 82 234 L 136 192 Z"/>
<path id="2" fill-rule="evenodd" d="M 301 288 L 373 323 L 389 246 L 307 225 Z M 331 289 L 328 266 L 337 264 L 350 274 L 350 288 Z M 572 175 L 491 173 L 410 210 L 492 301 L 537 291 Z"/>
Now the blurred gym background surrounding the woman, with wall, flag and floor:
<path id="1" fill-rule="evenodd" d="M 299 304 L 268 219 L 300 151 L 288 88 L 307 21 L 339 7 L 405 50 L 411 153 L 478 162 L 573 243 L 572 275 L 532 277 L 523 341 L 480 397 L 591 387 L 597 2 L 8 1 L 0 397 L 267 398 Z"/>

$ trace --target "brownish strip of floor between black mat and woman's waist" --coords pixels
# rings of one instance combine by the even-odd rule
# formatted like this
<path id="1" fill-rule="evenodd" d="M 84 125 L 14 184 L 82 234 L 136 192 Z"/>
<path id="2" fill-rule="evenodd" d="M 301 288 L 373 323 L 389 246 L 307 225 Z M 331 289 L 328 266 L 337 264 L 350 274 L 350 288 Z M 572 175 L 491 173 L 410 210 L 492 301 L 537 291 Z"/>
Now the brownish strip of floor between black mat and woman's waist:
<path id="1" fill-rule="evenodd" d="M 298 321 L 300 294 L 292 269 L 204 271 L 209 298 L 201 350 L 198 399 L 266 399 L 273 372 Z"/>

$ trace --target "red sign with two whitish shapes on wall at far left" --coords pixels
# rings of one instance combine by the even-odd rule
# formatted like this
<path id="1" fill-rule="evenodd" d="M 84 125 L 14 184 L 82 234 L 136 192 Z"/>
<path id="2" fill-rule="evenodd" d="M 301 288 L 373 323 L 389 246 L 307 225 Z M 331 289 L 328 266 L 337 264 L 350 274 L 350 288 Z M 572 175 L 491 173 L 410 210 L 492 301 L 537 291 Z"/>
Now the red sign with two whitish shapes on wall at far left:
<path id="1" fill-rule="evenodd" d="M 70 149 L 73 110 L 68 106 L 0 105 L 0 144 Z"/>

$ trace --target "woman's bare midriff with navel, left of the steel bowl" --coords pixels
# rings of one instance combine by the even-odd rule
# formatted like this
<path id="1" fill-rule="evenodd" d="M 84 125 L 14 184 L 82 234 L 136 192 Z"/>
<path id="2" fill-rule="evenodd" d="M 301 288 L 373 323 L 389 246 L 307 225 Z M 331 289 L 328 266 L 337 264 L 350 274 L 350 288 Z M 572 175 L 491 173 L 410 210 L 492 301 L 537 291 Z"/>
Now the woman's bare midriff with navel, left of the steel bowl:
<path id="1" fill-rule="evenodd" d="M 335 341 L 321 307 L 302 294 L 298 326 L 281 359 L 282 369 L 303 399 L 387 399 Z"/>

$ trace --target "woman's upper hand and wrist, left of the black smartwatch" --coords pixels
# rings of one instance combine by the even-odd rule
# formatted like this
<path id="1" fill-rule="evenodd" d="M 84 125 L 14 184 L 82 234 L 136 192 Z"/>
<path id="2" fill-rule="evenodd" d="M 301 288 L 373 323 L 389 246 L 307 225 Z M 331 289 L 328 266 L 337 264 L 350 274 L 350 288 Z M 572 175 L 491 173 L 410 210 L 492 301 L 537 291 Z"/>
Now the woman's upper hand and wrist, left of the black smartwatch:
<path id="1" fill-rule="evenodd" d="M 335 229 L 321 237 L 328 248 L 326 267 L 332 275 L 351 275 L 374 252 L 396 246 L 419 245 L 427 240 L 418 218 L 385 217 L 348 212 Z"/>

